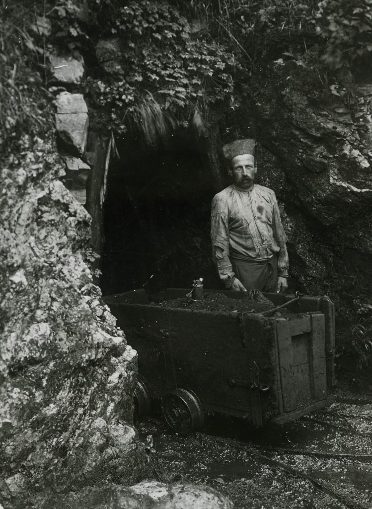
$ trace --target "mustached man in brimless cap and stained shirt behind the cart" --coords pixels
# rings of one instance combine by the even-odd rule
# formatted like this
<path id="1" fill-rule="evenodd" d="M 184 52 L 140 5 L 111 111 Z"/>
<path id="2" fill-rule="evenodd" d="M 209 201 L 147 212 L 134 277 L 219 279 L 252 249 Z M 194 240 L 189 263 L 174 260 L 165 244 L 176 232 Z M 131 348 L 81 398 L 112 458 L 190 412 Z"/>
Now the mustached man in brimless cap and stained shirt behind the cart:
<path id="1" fill-rule="evenodd" d="M 254 183 L 253 139 L 223 146 L 233 184 L 212 201 L 213 261 L 226 288 L 287 290 L 288 253 L 274 191 Z"/>

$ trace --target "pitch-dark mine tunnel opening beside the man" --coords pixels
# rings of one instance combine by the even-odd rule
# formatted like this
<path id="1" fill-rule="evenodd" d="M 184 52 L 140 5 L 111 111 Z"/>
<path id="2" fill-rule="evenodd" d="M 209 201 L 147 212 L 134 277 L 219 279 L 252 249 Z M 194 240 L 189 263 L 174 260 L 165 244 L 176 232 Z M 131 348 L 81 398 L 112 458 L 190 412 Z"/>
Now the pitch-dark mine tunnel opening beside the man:
<path id="1" fill-rule="evenodd" d="M 150 149 L 134 136 L 117 142 L 120 157 L 107 176 L 103 295 L 191 288 L 197 277 L 219 288 L 209 236 L 218 178 L 195 145 L 183 133 Z"/>

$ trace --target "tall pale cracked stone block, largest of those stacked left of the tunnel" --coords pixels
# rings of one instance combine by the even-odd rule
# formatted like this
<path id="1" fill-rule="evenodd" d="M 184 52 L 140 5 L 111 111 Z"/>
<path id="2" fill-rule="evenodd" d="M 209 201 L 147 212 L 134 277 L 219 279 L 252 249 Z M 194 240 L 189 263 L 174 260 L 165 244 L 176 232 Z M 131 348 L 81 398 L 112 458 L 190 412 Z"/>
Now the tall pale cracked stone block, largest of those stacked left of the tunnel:
<path id="1" fill-rule="evenodd" d="M 56 129 L 64 143 L 79 155 L 87 146 L 88 108 L 81 94 L 62 92 L 56 97 Z"/>

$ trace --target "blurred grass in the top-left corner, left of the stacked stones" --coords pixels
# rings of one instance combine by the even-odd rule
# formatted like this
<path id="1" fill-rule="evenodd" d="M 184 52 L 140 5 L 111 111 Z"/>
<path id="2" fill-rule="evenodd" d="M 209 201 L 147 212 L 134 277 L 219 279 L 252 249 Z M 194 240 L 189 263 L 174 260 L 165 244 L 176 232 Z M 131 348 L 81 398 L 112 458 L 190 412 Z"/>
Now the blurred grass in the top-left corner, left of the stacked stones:
<path id="1" fill-rule="evenodd" d="M 40 6 L 15 0 L 0 6 L 0 153 L 24 132 L 41 136 L 50 129 L 43 39 L 33 32 Z"/>

